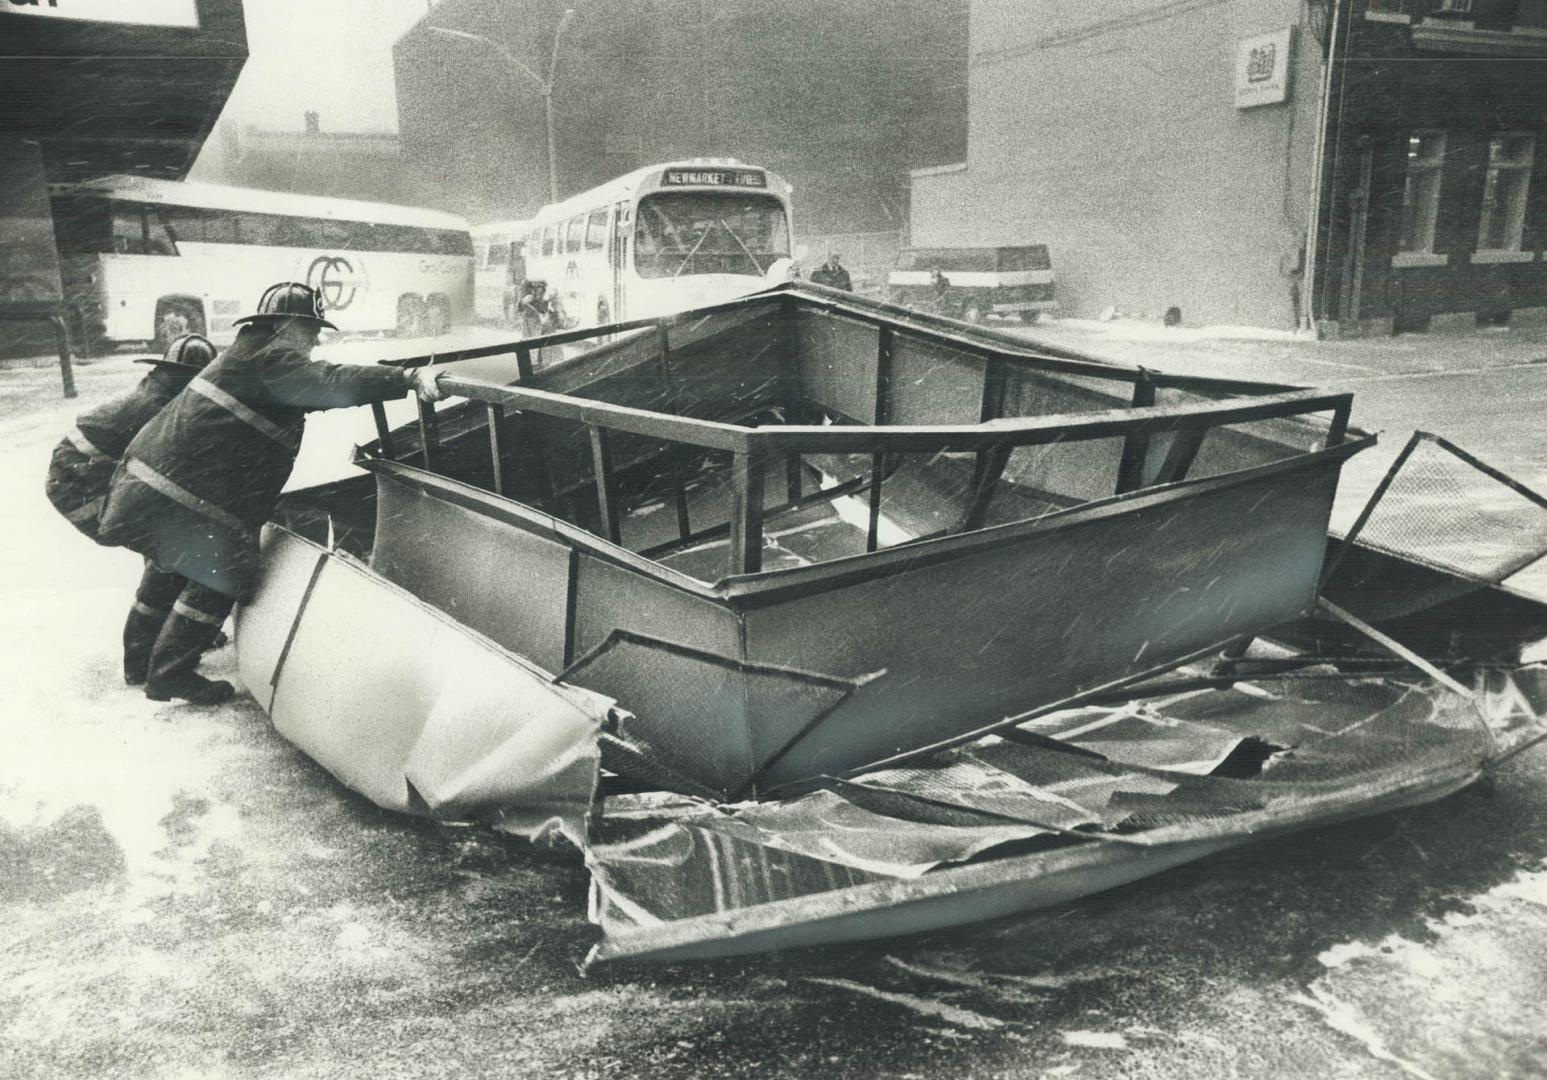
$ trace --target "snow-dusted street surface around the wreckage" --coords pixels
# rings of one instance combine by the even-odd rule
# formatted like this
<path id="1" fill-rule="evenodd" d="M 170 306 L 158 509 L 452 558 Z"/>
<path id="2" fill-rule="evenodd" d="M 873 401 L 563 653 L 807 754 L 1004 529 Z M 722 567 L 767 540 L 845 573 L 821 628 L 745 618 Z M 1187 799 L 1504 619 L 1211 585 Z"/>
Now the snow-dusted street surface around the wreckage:
<path id="1" fill-rule="evenodd" d="M 1176 362 L 1278 374 L 1216 348 Z M 1360 416 L 1542 480 L 1528 359 L 1375 364 Z M 138 371 L 82 368 L 77 402 L 0 373 L 0 1077 L 1547 1074 L 1547 749 L 1046 913 L 582 975 L 577 853 L 377 811 L 251 699 L 121 684 L 138 562 L 59 520 L 42 475 Z"/>

